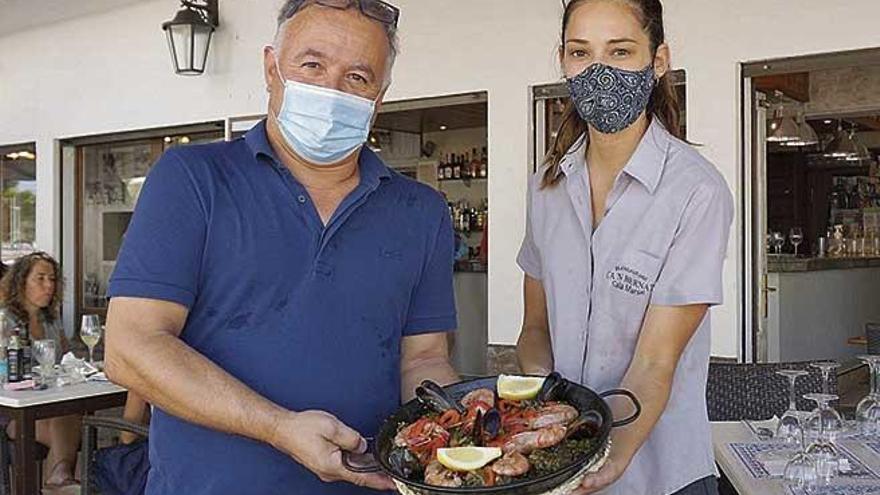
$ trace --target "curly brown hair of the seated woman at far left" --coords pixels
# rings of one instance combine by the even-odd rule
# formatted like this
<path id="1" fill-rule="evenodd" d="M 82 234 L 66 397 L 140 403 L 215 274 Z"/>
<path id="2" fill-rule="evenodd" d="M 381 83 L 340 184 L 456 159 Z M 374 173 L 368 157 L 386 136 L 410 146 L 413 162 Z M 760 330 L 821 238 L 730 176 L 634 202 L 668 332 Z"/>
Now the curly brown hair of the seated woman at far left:
<path id="1" fill-rule="evenodd" d="M 64 281 L 61 277 L 61 266 L 44 252 L 35 252 L 22 256 L 9 267 L 3 278 L 0 279 L 0 301 L 12 316 L 19 323 L 27 325 L 30 321 L 27 309 L 24 304 L 25 291 L 27 288 L 27 278 L 34 269 L 34 266 L 40 261 L 46 262 L 52 266 L 55 272 L 55 294 L 49 305 L 42 309 L 43 317 L 48 323 L 54 323 L 60 317 L 61 301 L 64 300 Z"/>

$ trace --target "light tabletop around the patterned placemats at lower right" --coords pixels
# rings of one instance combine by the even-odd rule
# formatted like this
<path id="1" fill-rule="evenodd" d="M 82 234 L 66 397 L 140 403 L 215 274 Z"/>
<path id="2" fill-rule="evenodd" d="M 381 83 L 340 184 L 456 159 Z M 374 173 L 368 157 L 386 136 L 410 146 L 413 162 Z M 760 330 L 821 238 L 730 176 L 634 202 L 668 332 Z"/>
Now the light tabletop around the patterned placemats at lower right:
<path id="1" fill-rule="evenodd" d="M 781 478 L 753 478 L 742 461 L 729 448 L 731 443 L 757 442 L 754 433 L 741 421 L 712 423 L 712 444 L 715 462 L 727 475 L 730 483 L 740 495 L 789 495 Z M 880 472 L 880 455 L 864 445 L 844 442 L 849 452 L 875 472 Z M 862 481 L 860 484 L 876 486 L 880 493 L 880 482 Z"/>

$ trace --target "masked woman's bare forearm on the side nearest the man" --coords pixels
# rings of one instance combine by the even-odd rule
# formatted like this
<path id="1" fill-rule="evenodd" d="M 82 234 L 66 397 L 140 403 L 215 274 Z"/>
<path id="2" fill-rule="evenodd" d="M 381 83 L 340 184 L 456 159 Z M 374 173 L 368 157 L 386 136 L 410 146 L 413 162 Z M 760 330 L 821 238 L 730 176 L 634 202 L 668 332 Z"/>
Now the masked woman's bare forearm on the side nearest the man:
<path id="1" fill-rule="evenodd" d="M 550 345 L 550 324 L 547 320 L 547 300 L 544 285 L 528 275 L 523 280 L 525 314 L 523 327 L 516 343 L 516 357 L 524 373 L 547 375 L 553 371 L 553 351 Z"/>

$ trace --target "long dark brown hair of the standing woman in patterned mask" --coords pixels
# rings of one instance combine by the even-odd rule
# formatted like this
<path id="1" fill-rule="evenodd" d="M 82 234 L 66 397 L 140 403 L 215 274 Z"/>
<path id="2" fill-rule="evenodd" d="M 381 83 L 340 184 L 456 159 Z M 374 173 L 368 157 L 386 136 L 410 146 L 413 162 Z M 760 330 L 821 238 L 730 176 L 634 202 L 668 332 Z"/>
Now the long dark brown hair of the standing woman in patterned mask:
<path id="1" fill-rule="evenodd" d="M 562 16 L 562 46 L 565 46 L 565 30 L 571 21 L 575 9 L 583 3 L 595 0 L 571 0 L 565 5 L 565 13 Z M 656 54 L 657 48 L 666 43 L 666 31 L 663 28 L 663 4 L 660 0 L 622 0 L 629 5 L 642 23 L 642 27 L 651 40 L 651 52 Z M 667 72 L 654 86 L 651 99 L 648 101 L 648 118 L 658 118 L 673 136 L 681 136 L 681 103 L 672 87 L 669 73 Z M 544 172 L 541 187 L 552 187 L 559 182 L 559 163 L 568 153 L 568 150 L 587 132 L 587 123 L 581 119 L 577 109 L 571 102 L 565 106 L 562 114 L 562 123 L 550 151 L 544 158 L 544 164 L 548 165 Z M 588 135 L 589 136 L 589 135 Z"/>

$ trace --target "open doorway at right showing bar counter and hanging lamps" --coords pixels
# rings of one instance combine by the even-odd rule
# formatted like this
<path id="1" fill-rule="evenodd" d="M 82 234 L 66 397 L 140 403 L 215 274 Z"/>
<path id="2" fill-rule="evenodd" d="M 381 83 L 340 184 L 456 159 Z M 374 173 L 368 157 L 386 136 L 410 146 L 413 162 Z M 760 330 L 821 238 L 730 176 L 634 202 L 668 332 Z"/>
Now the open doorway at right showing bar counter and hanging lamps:
<path id="1" fill-rule="evenodd" d="M 880 321 L 880 49 L 741 68 L 741 360 L 864 353 Z"/>

